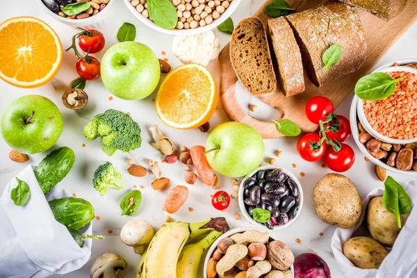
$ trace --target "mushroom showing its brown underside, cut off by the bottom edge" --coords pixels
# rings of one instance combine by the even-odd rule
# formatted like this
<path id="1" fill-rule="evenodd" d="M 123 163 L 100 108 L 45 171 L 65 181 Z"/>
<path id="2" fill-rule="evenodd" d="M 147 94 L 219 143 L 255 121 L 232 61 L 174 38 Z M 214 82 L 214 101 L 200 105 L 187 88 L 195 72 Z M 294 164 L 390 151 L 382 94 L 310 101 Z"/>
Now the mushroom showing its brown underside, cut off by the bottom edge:
<path id="1" fill-rule="evenodd" d="M 122 256 L 106 253 L 98 256 L 90 269 L 90 278 L 116 278 L 120 270 L 127 266 Z"/>

